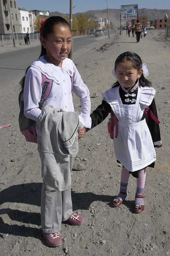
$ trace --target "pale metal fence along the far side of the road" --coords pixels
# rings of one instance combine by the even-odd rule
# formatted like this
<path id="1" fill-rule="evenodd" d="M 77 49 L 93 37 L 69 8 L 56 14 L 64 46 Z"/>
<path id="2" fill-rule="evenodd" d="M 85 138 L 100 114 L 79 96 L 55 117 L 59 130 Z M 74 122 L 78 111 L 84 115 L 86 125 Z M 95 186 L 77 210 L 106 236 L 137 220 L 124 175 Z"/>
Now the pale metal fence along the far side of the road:
<path id="1" fill-rule="evenodd" d="M 24 37 L 26 34 L 14 34 L 16 44 L 25 44 Z M 39 40 L 40 33 L 30 33 L 30 41 Z M 12 35 L 0 35 L 0 46 L 13 44 Z"/>

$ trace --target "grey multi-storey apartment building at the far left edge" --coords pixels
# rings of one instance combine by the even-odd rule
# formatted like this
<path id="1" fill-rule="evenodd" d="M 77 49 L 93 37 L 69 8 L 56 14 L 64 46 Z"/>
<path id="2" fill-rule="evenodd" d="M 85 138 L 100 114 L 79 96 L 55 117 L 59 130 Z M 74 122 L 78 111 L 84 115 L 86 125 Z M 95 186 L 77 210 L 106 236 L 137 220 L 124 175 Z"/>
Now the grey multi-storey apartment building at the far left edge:
<path id="1" fill-rule="evenodd" d="M 18 1 L 10 0 L 11 17 L 14 33 L 20 33 Z M 11 20 L 7 0 L 0 0 L 0 34 L 11 34 Z"/>

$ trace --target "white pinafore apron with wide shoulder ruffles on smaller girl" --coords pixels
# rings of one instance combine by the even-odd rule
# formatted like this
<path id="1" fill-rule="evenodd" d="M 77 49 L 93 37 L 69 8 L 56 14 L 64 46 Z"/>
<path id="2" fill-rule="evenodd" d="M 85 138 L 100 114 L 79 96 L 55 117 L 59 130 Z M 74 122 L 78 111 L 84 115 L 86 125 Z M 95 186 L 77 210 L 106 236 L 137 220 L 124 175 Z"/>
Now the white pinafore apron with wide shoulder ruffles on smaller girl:
<path id="1" fill-rule="evenodd" d="M 136 103 L 123 105 L 119 87 L 109 89 L 103 96 L 118 119 L 118 136 L 114 138 L 116 158 L 129 172 L 135 172 L 156 160 L 146 120 L 141 121 L 144 109 L 151 105 L 156 91 L 152 87 L 138 87 Z"/>

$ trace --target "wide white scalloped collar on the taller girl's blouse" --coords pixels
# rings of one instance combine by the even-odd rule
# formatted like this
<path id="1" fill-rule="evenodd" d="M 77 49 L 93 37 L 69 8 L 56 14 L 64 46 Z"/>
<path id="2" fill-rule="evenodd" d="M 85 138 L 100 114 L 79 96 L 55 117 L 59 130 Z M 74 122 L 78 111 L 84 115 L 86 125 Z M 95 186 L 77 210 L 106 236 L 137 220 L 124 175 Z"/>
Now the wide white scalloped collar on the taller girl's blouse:
<path id="1" fill-rule="evenodd" d="M 44 59 L 44 56 L 41 56 L 38 60 L 35 60 L 31 66 L 39 69 L 41 73 L 43 73 L 49 79 L 55 81 L 57 84 L 61 84 L 61 72 L 63 72 L 63 70 L 65 70 L 69 76 L 73 76 L 74 74 L 74 63 L 68 58 L 63 60 L 61 68 L 47 62 Z"/>

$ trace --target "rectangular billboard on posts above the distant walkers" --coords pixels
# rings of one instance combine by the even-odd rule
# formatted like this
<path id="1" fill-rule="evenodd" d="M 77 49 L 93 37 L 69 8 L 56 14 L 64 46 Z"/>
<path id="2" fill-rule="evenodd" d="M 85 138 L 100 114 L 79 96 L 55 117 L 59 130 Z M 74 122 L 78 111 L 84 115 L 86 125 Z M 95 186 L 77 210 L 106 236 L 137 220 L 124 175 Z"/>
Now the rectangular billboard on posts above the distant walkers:
<path id="1" fill-rule="evenodd" d="M 137 19 L 137 4 L 121 5 L 122 20 Z"/>

